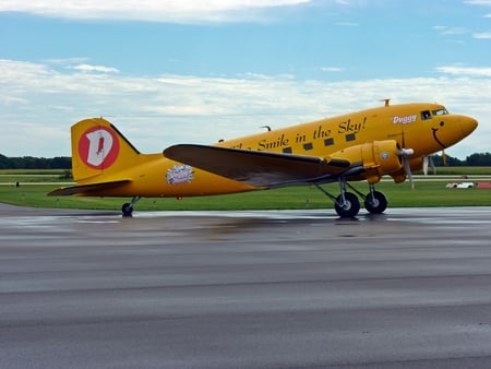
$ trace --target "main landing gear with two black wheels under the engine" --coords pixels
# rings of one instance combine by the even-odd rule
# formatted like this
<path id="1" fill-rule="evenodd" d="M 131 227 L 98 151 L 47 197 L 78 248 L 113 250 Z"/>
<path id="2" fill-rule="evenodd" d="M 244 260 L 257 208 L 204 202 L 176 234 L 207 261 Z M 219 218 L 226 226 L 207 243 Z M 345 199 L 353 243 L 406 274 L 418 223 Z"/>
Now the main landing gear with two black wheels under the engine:
<path id="1" fill-rule="evenodd" d="M 370 184 L 370 192 L 364 195 L 356 188 L 350 186 L 344 178 L 339 179 L 339 192 L 338 197 L 334 197 L 323 189 L 319 183 L 314 186 L 323 192 L 327 198 L 333 200 L 334 209 L 337 215 L 340 217 L 355 217 L 360 211 L 360 201 L 358 197 L 363 199 L 364 209 L 371 214 L 382 214 L 387 209 L 387 198 L 382 192 L 375 191 L 375 187 Z M 347 192 L 346 188 L 349 187 L 355 193 Z M 357 197 L 358 195 L 358 197 Z"/>

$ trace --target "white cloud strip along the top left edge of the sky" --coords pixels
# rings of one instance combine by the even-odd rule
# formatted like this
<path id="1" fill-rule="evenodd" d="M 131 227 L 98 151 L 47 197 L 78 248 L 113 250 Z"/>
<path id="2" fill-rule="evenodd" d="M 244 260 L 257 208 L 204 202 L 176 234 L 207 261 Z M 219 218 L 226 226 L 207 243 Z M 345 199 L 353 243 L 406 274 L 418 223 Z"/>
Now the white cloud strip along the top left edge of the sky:
<path id="1" fill-rule="evenodd" d="M 237 22 L 254 20 L 258 11 L 311 0 L 2 0 L 0 12 L 26 12 L 69 19 L 143 20 L 151 22 Z M 259 16 L 261 17 L 261 16 Z"/>

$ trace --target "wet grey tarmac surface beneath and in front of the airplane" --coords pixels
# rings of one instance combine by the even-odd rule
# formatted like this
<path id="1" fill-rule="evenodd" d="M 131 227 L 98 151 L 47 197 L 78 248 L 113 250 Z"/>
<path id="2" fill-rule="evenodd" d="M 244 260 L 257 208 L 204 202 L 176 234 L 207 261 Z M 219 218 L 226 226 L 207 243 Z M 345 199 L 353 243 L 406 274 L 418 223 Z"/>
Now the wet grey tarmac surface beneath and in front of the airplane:
<path id="1" fill-rule="evenodd" d="M 489 368 L 491 207 L 0 204 L 1 368 Z"/>

